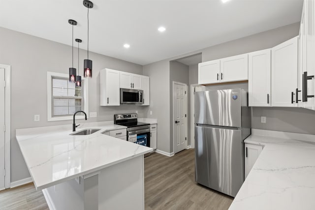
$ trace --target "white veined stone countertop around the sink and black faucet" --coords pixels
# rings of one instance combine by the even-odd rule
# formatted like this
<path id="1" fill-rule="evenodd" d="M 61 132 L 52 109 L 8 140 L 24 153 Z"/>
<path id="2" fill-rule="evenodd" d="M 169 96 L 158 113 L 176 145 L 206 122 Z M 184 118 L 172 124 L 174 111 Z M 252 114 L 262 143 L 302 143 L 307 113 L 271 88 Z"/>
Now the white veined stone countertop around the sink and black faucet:
<path id="1" fill-rule="evenodd" d="M 97 172 L 153 151 L 117 139 L 104 131 L 126 128 L 113 121 L 77 123 L 77 131 L 100 128 L 91 135 L 74 136 L 72 124 L 16 129 L 16 139 L 36 189 Z"/>

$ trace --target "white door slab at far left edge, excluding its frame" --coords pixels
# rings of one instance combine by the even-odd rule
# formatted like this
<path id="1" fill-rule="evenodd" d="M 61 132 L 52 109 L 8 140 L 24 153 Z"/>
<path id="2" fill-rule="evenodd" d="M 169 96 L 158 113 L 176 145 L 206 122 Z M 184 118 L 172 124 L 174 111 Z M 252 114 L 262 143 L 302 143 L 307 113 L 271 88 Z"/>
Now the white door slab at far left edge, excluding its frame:
<path id="1" fill-rule="evenodd" d="M 4 69 L 0 68 L 0 190 L 4 189 Z"/>

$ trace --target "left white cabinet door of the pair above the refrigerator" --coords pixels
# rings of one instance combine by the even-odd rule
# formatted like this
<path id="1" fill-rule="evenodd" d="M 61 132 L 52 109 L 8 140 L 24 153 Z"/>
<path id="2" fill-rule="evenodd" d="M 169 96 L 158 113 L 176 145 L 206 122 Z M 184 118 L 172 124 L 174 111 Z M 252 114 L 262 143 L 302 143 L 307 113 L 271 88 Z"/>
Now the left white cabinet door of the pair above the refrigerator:
<path id="1" fill-rule="evenodd" d="M 211 60 L 198 64 L 198 84 L 220 82 L 220 60 Z"/>

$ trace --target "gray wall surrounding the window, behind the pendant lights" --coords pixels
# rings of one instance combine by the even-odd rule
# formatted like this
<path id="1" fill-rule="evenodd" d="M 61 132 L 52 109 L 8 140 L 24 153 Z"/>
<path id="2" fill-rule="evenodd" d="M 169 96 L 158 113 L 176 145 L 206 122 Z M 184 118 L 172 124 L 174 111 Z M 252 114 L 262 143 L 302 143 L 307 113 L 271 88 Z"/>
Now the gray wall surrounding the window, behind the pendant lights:
<path id="1" fill-rule="evenodd" d="M 71 46 L 27 35 L 13 30 L 0 28 L 0 63 L 11 65 L 11 182 L 30 177 L 24 158 L 15 138 L 15 129 L 27 127 L 70 124 L 67 121 L 47 121 L 47 71 L 68 73 L 71 66 Z M 84 41 L 84 40 L 83 40 Z M 77 49 L 74 50 L 77 55 Z M 86 51 L 80 51 L 80 73 Z M 97 112 L 92 121 L 113 120 L 114 113 L 139 111 L 139 117 L 146 117 L 145 107 L 99 106 L 99 70 L 113 68 L 142 74 L 141 65 L 90 53 L 93 60 L 93 75 L 89 79 L 90 112 Z M 77 56 L 74 56 L 77 66 Z M 167 83 L 167 87 L 169 87 Z M 167 91 L 169 92 L 169 91 Z M 169 97 L 167 97 L 169 98 Z M 34 121 L 34 114 L 40 121 Z M 168 115 L 169 116 L 169 115 Z M 79 120 L 80 121 L 80 120 Z M 169 135 L 168 135 L 169 136 Z"/>

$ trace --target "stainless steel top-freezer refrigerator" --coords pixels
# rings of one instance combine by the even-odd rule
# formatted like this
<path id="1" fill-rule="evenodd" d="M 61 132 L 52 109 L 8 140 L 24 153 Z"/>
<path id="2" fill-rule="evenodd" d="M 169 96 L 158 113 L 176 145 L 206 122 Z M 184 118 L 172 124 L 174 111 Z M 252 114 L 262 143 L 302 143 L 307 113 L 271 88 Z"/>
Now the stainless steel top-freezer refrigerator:
<path id="1" fill-rule="evenodd" d="M 235 197 L 244 182 L 244 139 L 251 134 L 248 93 L 195 93 L 195 181 Z"/>

